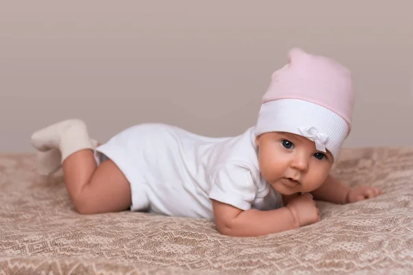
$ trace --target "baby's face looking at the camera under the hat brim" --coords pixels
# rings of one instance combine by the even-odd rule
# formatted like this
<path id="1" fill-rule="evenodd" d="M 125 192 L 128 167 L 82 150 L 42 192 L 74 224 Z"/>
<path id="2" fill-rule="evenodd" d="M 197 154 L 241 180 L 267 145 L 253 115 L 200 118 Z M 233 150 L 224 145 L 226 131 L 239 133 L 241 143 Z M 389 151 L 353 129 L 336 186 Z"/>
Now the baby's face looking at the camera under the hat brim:
<path id="1" fill-rule="evenodd" d="M 260 171 L 282 195 L 311 192 L 319 188 L 330 173 L 332 155 L 317 151 L 315 143 L 306 137 L 271 132 L 257 137 L 256 143 Z"/>

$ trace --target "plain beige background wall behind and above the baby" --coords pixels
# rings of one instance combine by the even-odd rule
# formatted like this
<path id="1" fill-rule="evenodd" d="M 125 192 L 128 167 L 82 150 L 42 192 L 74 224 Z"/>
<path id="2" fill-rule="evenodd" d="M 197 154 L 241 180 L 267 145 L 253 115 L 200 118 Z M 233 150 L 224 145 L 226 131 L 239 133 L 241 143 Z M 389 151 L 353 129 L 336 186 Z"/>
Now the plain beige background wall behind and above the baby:
<path id="1" fill-rule="evenodd" d="M 412 10 L 407 0 L 0 0 L 0 151 L 32 152 L 32 131 L 73 117 L 103 141 L 141 122 L 241 133 L 293 46 L 354 72 L 346 146 L 412 145 Z"/>

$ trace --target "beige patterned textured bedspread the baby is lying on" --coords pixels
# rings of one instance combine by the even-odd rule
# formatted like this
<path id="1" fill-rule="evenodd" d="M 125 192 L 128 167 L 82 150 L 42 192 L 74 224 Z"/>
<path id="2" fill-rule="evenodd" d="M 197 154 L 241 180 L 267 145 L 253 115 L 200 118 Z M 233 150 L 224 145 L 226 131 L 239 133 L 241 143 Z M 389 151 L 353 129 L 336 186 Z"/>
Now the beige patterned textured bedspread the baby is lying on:
<path id="1" fill-rule="evenodd" d="M 334 173 L 385 194 L 234 238 L 202 219 L 77 214 L 60 179 L 36 179 L 33 155 L 0 155 L 0 274 L 413 274 L 413 149 L 345 149 Z"/>

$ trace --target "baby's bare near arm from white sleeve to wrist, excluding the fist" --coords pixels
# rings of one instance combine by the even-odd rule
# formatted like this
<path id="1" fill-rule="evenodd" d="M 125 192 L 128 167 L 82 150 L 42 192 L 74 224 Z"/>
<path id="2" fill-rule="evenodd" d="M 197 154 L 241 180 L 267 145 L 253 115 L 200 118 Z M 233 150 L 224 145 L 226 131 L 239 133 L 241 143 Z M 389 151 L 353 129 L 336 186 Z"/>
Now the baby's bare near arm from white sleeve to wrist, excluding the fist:
<path id="1" fill-rule="evenodd" d="M 224 235 L 261 236 L 299 227 L 293 212 L 287 207 L 268 211 L 244 211 L 214 199 L 212 205 L 215 224 Z"/>

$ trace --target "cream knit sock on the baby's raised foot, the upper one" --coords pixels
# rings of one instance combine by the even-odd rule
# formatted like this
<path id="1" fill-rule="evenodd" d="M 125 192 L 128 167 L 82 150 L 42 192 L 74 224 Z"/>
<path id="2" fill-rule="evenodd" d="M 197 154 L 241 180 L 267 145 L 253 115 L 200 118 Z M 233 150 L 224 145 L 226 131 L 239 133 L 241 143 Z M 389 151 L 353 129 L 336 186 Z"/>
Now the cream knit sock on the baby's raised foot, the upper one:
<path id="1" fill-rule="evenodd" d="M 30 143 L 41 152 L 59 149 L 61 163 L 76 151 L 94 148 L 82 120 L 64 120 L 40 129 L 33 133 Z"/>

